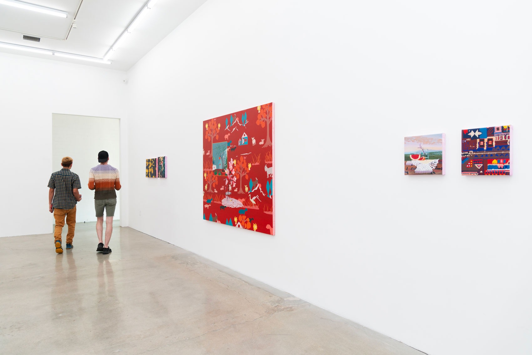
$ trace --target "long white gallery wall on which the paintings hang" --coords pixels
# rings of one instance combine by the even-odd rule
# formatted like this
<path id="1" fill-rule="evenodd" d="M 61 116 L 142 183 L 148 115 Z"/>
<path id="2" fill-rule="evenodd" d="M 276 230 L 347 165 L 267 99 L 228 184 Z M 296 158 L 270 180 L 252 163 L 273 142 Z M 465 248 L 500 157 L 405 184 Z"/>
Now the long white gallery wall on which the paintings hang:
<path id="1" fill-rule="evenodd" d="M 431 355 L 532 353 L 530 11 L 207 1 L 128 73 L 129 225 Z M 272 101 L 277 235 L 203 221 L 202 121 Z M 514 175 L 461 176 L 461 129 L 506 124 Z M 446 175 L 404 176 L 442 132 Z"/>

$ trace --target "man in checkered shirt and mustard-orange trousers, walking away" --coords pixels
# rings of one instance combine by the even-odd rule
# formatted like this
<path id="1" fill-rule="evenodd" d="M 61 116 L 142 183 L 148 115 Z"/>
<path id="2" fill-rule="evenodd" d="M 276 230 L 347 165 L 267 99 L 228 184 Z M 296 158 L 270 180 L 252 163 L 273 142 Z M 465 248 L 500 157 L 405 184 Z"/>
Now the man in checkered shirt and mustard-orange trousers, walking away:
<path id="1" fill-rule="evenodd" d="M 81 189 L 78 174 L 70 171 L 72 168 L 72 158 L 64 157 L 61 159 L 63 168 L 60 171 L 52 173 L 48 181 L 48 210 L 54 213 L 55 231 L 54 244 L 55 252 L 62 253 L 61 233 L 63 226 L 68 225 L 66 233 L 66 249 L 72 249 L 72 239 L 76 229 L 76 204 L 81 201 L 81 195 L 78 189 Z"/>

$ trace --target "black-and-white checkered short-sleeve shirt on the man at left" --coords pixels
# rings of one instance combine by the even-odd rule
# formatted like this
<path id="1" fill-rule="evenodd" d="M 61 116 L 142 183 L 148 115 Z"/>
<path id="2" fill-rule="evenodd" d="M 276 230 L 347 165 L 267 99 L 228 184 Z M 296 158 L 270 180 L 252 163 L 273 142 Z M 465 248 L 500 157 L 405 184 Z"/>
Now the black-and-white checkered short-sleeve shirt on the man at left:
<path id="1" fill-rule="evenodd" d="M 52 173 L 48 187 L 55 190 L 52 205 L 58 209 L 72 209 L 78 203 L 73 189 L 81 189 L 78 174 L 74 174 L 70 169 L 62 168 L 60 171 Z"/>

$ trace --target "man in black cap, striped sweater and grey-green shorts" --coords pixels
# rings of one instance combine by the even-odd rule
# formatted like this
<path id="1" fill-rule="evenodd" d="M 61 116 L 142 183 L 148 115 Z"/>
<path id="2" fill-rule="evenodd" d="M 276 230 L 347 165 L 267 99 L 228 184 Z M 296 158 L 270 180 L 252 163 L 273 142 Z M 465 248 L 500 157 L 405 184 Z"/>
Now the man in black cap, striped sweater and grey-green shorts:
<path id="1" fill-rule="evenodd" d="M 98 235 L 98 247 L 96 251 L 109 254 L 109 240 L 113 233 L 114 209 L 117 207 L 117 193 L 120 190 L 120 177 L 118 169 L 109 165 L 109 154 L 102 150 L 98 153 L 99 165 L 89 172 L 89 189 L 94 192 L 94 208 L 96 209 L 96 234 Z M 103 243 L 103 212 L 105 209 L 105 244 Z"/>

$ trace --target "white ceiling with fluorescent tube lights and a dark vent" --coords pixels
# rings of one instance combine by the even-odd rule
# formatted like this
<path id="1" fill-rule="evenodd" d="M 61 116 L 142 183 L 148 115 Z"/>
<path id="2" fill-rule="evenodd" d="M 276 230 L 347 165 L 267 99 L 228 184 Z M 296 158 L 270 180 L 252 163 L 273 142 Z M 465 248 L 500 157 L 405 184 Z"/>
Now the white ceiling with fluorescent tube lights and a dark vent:
<path id="1" fill-rule="evenodd" d="M 128 27 L 147 0 L 24 0 L 69 13 L 60 18 L 0 4 L 0 42 L 102 58 Z M 129 70 L 157 43 L 179 26 L 206 0 L 159 0 L 109 59 L 112 64 L 22 52 L 0 47 L 0 52 Z M 77 28 L 71 29 L 74 15 Z M 69 33 L 70 31 L 70 33 Z M 40 42 L 22 39 L 40 37 Z"/>

